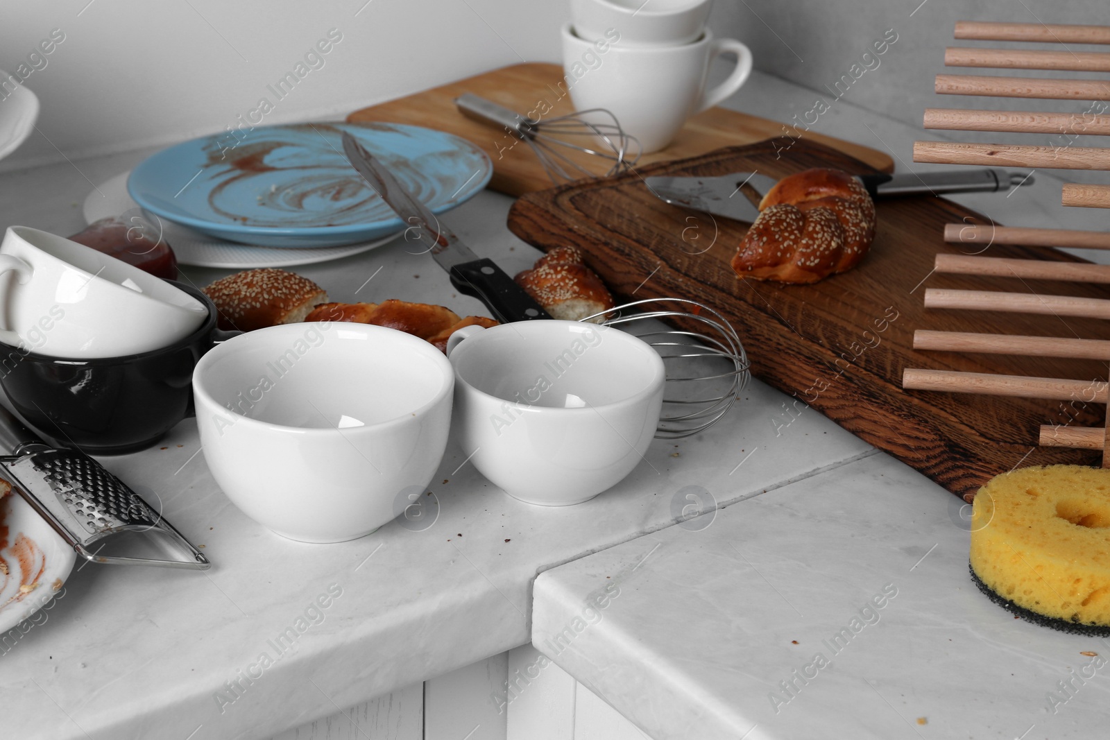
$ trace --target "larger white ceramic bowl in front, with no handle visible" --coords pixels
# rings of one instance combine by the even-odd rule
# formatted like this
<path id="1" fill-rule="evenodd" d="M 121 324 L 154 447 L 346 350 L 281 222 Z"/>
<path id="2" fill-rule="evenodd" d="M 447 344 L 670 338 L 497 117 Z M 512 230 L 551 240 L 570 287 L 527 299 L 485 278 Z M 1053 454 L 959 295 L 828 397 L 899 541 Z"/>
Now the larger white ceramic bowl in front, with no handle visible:
<path id="1" fill-rule="evenodd" d="M 427 342 L 342 322 L 241 334 L 193 372 L 212 477 L 249 517 L 305 543 L 369 535 L 411 504 L 443 458 L 453 387 Z"/>

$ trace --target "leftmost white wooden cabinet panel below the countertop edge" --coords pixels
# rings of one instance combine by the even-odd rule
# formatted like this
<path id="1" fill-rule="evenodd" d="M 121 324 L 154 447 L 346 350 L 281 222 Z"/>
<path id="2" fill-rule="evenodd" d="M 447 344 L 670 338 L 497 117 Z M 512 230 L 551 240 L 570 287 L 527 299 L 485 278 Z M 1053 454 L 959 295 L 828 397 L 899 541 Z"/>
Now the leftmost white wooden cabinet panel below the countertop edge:
<path id="1" fill-rule="evenodd" d="M 424 686 L 415 683 L 271 740 L 423 740 Z"/>

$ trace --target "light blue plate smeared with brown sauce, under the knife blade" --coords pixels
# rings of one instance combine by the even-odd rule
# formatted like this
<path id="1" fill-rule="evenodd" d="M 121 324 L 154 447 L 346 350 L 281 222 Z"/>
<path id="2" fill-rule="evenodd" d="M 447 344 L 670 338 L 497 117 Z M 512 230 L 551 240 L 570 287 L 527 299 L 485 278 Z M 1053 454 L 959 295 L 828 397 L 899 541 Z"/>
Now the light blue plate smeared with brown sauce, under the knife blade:
<path id="1" fill-rule="evenodd" d="M 493 174 L 485 152 L 443 131 L 304 123 L 171 146 L 132 170 L 128 192 L 168 221 L 260 246 L 339 246 L 401 231 L 405 224 L 343 155 L 343 131 L 433 213 L 465 203 Z"/>

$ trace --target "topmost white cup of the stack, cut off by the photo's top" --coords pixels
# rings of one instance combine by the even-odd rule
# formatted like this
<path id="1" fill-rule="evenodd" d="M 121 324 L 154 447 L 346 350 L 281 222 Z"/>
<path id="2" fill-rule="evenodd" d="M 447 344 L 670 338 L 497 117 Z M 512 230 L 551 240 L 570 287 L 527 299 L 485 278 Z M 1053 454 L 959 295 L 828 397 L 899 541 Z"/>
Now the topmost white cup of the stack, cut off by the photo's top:
<path id="1" fill-rule="evenodd" d="M 571 0 L 571 22 L 587 41 L 614 29 L 623 47 L 679 45 L 705 30 L 713 0 Z"/>

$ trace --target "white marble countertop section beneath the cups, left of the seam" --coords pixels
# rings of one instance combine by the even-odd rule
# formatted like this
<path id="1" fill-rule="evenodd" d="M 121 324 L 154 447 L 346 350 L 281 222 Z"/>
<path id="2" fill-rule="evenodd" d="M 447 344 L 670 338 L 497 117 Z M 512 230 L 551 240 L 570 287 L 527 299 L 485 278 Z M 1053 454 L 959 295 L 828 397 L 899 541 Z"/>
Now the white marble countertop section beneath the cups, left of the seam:
<path id="1" fill-rule="evenodd" d="M 808 110 L 811 97 L 755 74 L 728 104 L 789 119 Z M 874 139 L 881 138 L 905 161 L 916 134 L 845 101 L 820 125 L 826 133 L 871 145 L 880 145 Z M 77 232 L 83 226 L 80 205 L 93 183 L 149 153 L 3 173 L 0 226 Z M 1057 213 L 1061 209 L 1046 205 L 1058 203 L 1058 184 L 1038 184 L 1010 199 L 962 201 L 989 209 L 1003 223 L 1064 224 Z M 505 229 L 509 204 L 485 192 L 453 211 L 450 221 L 483 256 L 513 273 L 531 265 L 537 253 Z M 426 255 L 408 254 L 404 246 L 395 242 L 297 272 L 323 285 L 333 300 L 402 297 L 444 303 L 460 314 L 482 311 L 473 298 L 454 295 Z M 199 285 L 223 274 L 185 271 Z M 676 494 L 686 486 L 700 486 L 727 505 L 871 452 L 811 410 L 783 428 L 794 419 L 788 397 L 758 382 L 744 396 L 726 422 L 689 440 L 657 440 L 628 479 L 567 509 L 508 498 L 472 467 L 461 466 L 465 455 L 452 443 L 432 488 L 441 505 L 432 528 L 416 533 L 391 524 L 330 546 L 291 543 L 246 519 L 213 484 L 198 454 L 195 425 L 186 419 L 163 440 L 167 449 L 103 459 L 203 544 L 213 569 L 202 575 L 89 565 L 74 571 L 48 622 L 0 656 L 4 729 L 12 737 L 50 740 L 179 733 L 193 740 L 264 738 L 525 643 L 538 572 L 668 526 L 675 521 Z M 332 584 L 342 596 L 324 620 L 261 678 L 244 681 L 241 696 L 229 692 L 228 682 L 239 680 L 263 651 L 274 653 L 268 640 Z M 234 701 L 228 703 L 230 698 Z"/>

